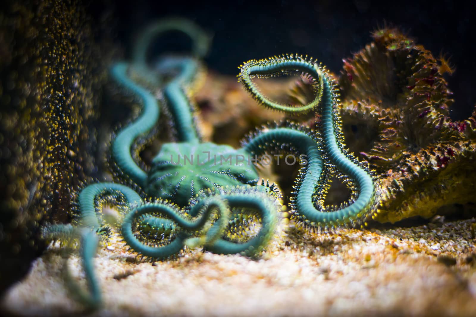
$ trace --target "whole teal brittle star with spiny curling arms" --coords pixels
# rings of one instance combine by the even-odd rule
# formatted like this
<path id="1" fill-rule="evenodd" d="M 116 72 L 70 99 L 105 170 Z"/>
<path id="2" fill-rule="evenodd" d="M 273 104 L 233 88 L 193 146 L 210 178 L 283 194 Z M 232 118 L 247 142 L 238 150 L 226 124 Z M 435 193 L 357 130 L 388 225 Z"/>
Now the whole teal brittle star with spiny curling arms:
<path id="1" fill-rule="evenodd" d="M 98 241 L 95 233 L 107 226 L 99 217 L 101 197 L 112 197 L 128 210 L 121 224 L 124 240 L 137 253 L 153 259 L 173 256 L 185 246 L 204 246 L 218 254 L 240 253 L 250 257 L 256 257 L 264 250 L 278 221 L 279 193 L 264 182 L 259 185 L 255 167 L 248 163 L 249 160 L 241 161 L 238 157 L 265 153 L 304 155 L 299 156 L 300 176 L 296 180 L 291 213 L 307 226 L 354 225 L 366 219 L 372 203 L 372 178 L 343 150 L 337 93 L 329 75 L 316 61 L 297 55 L 251 60 L 241 66 L 239 81 L 258 102 L 269 108 L 288 113 L 320 112 L 321 131 L 316 133 L 285 121 L 259 129 L 238 150 L 228 145 L 202 143 L 194 120 L 195 111 L 187 94 L 197 74 L 197 60 L 162 58 L 155 69 L 145 63 L 145 52 L 153 36 L 169 29 L 189 34 L 196 41 L 194 47 L 199 48 L 198 53 L 203 53 L 203 45 L 197 42 L 206 37 L 196 33 L 196 27 L 191 28 L 188 21 L 162 21 L 151 26 L 139 39 L 133 63 L 117 63 L 111 68 L 111 75 L 119 86 L 132 92 L 142 105 L 141 115 L 120 130 L 113 141 L 112 159 L 128 180 L 156 201 L 144 202 L 139 193 L 125 185 L 94 183 L 79 194 L 80 227 L 51 225 L 45 229 L 45 235 L 50 237 L 81 237 L 81 256 L 90 293 L 84 293 L 81 298 L 90 307 L 98 307 L 101 303 L 92 265 Z M 308 105 L 290 106 L 268 100 L 258 92 L 252 80 L 256 76 L 295 72 L 305 72 L 315 78 L 316 98 Z M 169 81 L 164 79 L 168 76 L 172 77 Z M 139 77 L 141 84 L 133 77 Z M 165 97 L 167 105 L 159 106 L 158 98 L 146 88 L 155 86 L 159 86 L 159 93 Z M 131 154 L 133 144 L 157 125 L 160 109 L 165 106 L 171 113 L 178 142 L 163 144 L 146 172 Z M 173 162 L 172 157 L 177 155 L 179 158 L 180 154 L 184 160 Z M 221 157 L 225 155 L 232 157 L 228 164 L 222 164 Z M 195 156 L 195 162 L 187 163 L 186 156 Z M 330 173 L 345 174 L 356 181 L 358 197 L 342 208 L 319 210 Z M 357 196 L 357 190 L 354 196 Z M 248 232 L 238 229 L 242 221 L 257 219 L 260 220 L 258 232 L 250 239 L 243 238 Z M 135 231 L 147 238 L 139 240 Z M 243 239 L 230 239 L 230 231 L 238 232 Z"/>

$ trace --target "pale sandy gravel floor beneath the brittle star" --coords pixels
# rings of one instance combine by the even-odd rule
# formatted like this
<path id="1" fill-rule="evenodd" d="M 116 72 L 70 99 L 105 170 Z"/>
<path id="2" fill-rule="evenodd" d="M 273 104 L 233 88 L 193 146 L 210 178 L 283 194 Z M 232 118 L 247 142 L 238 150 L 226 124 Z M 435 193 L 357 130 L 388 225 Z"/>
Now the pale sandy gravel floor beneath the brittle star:
<path id="1" fill-rule="evenodd" d="M 19 316 L 476 316 L 474 222 L 333 233 L 291 223 L 258 260 L 194 250 L 154 264 L 116 235 L 95 259 L 104 305 L 93 313 L 70 298 L 53 245 L 1 305 Z M 84 283 L 76 255 L 69 265 Z"/>

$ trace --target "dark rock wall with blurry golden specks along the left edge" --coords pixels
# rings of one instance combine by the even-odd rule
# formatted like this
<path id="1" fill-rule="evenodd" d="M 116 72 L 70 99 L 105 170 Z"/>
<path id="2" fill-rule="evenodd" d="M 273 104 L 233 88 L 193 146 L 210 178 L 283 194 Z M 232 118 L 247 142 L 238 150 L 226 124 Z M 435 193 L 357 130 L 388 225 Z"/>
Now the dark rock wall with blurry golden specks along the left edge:
<path id="1" fill-rule="evenodd" d="M 39 226 L 70 218 L 93 168 L 99 64 L 78 1 L 5 1 L 0 9 L 0 292 L 43 245 Z"/>

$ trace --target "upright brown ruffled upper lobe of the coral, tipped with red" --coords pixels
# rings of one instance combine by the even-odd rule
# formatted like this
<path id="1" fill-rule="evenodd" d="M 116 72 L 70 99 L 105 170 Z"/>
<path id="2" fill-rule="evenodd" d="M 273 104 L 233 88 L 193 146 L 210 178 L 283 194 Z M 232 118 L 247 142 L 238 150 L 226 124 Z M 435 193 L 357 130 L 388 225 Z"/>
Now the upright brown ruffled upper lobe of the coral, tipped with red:
<path id="1" fill-rule="evenodd" d="M 377 128 L 371 148 L 360 152 L 383 173 L 405 153 L 458 136 L 444 128 L 452 94 L 431 53 L 397 29 L 378 30 L 374 40 L 344 61 L 339 85 L 347 126 L 365 116 Z"/>

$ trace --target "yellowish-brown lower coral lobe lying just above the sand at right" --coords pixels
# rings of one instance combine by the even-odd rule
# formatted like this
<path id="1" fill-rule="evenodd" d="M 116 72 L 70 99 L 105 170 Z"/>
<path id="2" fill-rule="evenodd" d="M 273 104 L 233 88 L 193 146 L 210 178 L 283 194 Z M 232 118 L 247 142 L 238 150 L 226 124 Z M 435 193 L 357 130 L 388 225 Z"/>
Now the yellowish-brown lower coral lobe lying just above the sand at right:
<path id="1" fill-rule="evenodd" d="M 377 184 L 379 205 L 374 216 L 395 222 L 412 216 L 432 217 L 451 204 L 475 202 L 476 142 L 432 144 L 407 155 Z M 441 210 L 443 208 L 443 210 Z"/>

